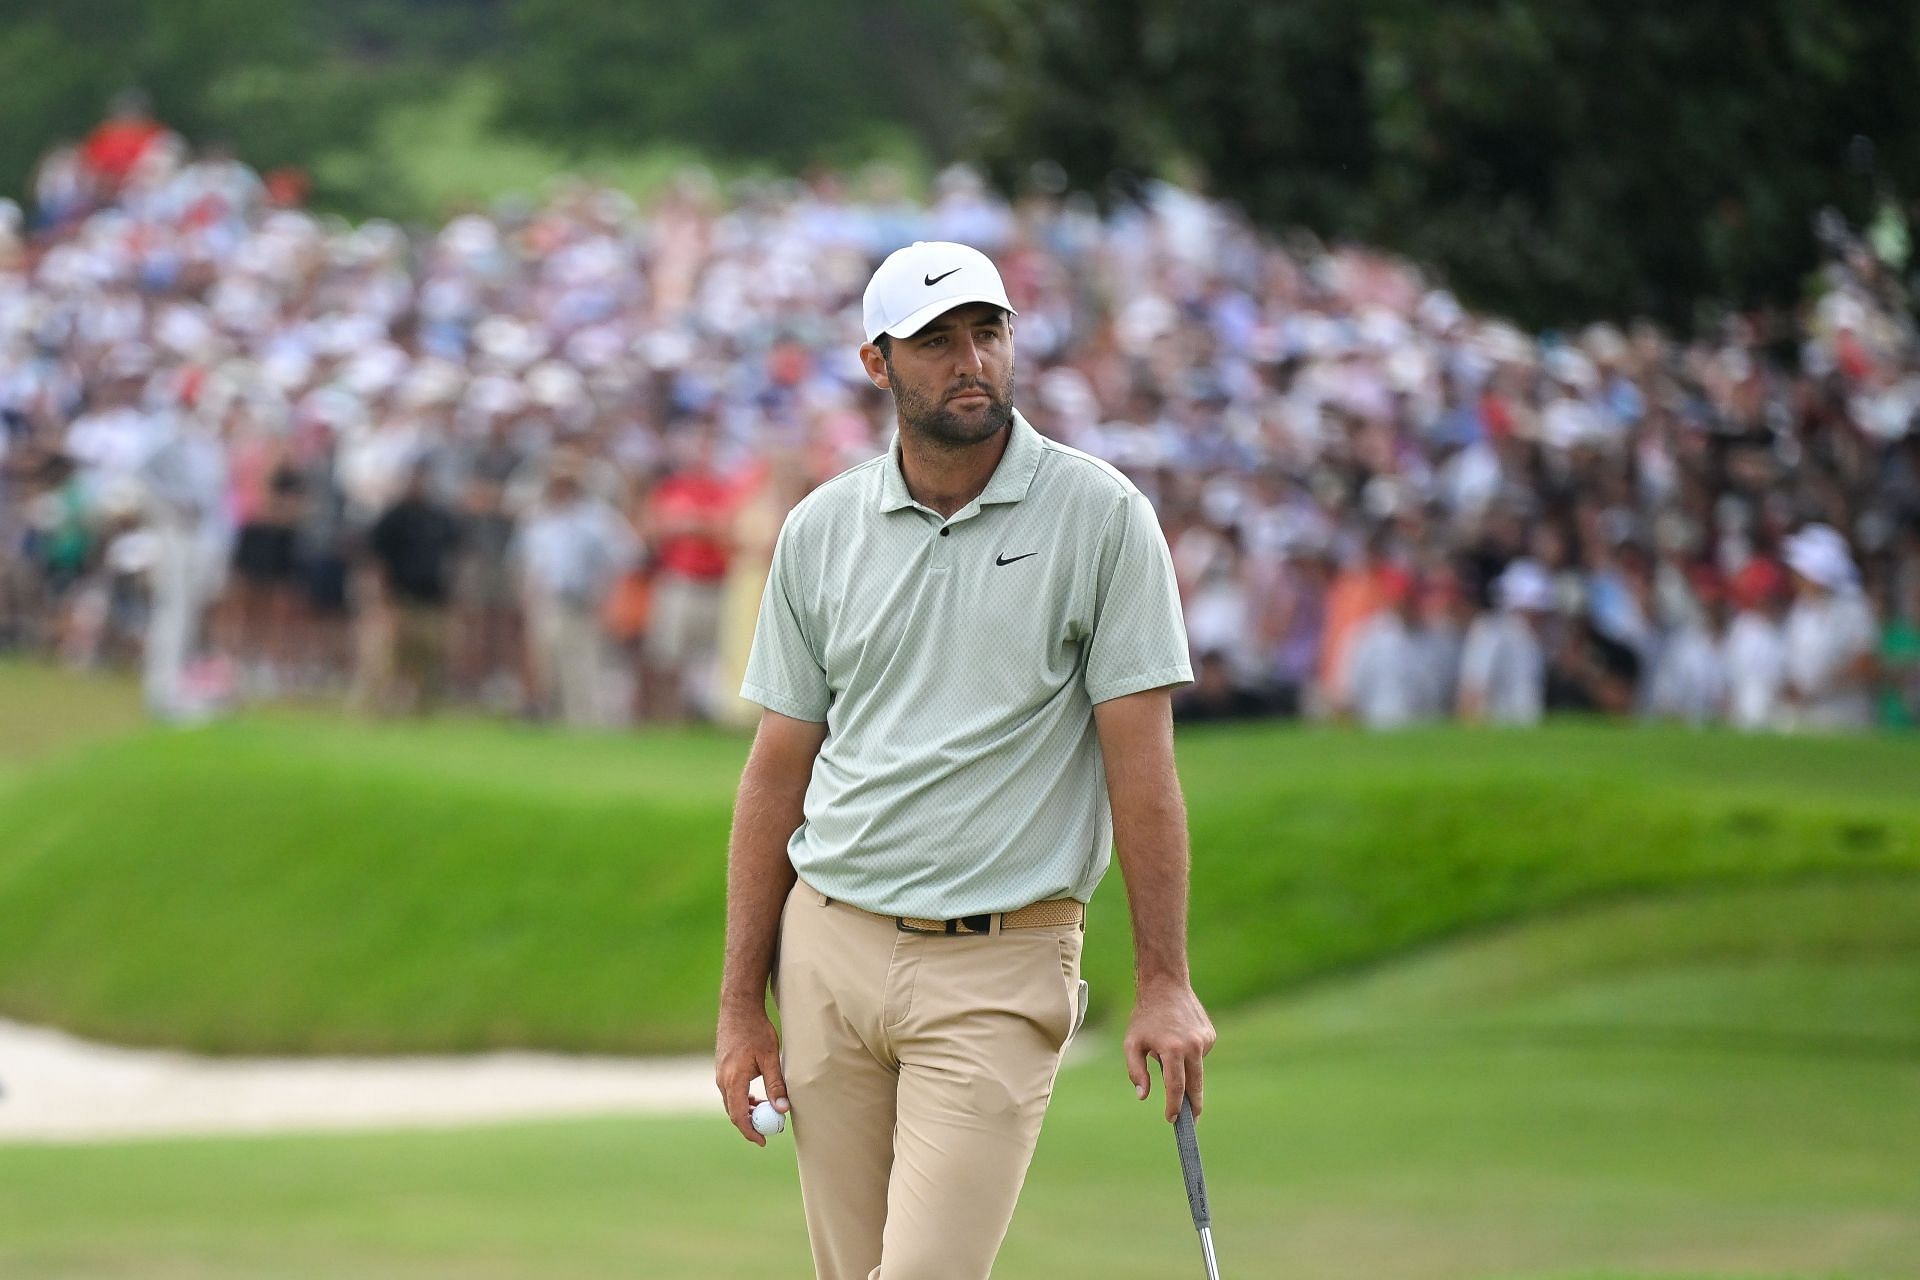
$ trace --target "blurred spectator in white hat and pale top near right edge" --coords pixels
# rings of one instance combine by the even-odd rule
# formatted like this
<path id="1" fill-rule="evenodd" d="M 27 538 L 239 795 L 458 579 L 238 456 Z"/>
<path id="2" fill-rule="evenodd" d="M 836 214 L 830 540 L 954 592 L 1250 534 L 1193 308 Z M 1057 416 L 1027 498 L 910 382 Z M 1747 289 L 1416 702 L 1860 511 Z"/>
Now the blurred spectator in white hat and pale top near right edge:
<path id="1" fill-rule="evenodd" d="M 1880 628 L 1860 591 L 1847 539 L 1809 524 L 1786 541 L 1793 608 L 1786 624 L 1786 693 L 1803 729 L 1866 729 L 1874 723 Z"/>

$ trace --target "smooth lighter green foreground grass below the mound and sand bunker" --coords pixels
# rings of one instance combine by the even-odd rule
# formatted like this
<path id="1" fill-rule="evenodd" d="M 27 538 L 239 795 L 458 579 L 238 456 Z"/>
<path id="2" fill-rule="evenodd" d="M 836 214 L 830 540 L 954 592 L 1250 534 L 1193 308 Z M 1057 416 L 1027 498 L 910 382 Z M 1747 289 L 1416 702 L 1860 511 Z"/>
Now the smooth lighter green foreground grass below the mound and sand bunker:
<path id="1" fill-rule="evenodd" d="M 1486 931 L 1221 1017 L 1231 1276 L 1920 1276 L 1920 885 L 1716 889 Z M 995 1274 L 1198 1274 L 1108 1040 Z M 801 1276 L 791 1146 L 724 1121 L 0 1148 L 0 1274 Z"/>

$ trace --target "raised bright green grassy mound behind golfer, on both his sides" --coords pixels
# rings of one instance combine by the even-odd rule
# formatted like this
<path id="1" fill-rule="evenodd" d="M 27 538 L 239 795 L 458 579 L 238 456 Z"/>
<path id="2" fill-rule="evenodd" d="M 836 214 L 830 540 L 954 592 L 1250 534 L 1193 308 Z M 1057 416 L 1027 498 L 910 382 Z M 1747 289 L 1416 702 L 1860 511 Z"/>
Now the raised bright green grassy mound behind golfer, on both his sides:
<path id="1" fill-rule="evenodd" d="M 745 743 L 136 731 L 0 777 L 0 1011 L 211 1052 L 701 1050 Z M 1920 873 L 1912 741 L 1557 727 L 1181 737 L 1196 983 L 1227 1009 L 1620 894 Z M 1125 1007 L 1119 877 L 1096 1017 Z"/>

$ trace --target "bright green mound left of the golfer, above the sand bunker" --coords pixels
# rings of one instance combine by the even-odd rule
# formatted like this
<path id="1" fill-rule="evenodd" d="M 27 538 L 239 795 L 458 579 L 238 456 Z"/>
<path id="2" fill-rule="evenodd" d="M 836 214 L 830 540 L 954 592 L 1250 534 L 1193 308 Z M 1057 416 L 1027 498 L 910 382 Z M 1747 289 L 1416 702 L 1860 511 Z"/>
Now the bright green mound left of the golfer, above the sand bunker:
<path id="1" fill-rule="evenodd" d="M 213 1052 L 685 1048 L 737 770 L 294 718 L 83 750 L 0 816 L 0 1007 Z"/>

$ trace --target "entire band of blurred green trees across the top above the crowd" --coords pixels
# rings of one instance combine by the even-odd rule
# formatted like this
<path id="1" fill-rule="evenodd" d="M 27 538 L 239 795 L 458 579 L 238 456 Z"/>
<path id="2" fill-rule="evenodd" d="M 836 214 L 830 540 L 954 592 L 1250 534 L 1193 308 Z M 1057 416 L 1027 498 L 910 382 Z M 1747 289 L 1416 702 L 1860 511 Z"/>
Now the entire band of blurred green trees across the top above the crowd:
<path id="1" fill-rule="evenodd" d="M 564 154 L 912 140 L 1094 190 L 1192 165 L 1534 324 L 1789 301 L 1816 209 L 1920 188 L 1920 12 L 1874 0 L 0 0 L 0 192 L 138 84 L 324 205 L 415 213 L 369 132 L 451 67 Z"/>

